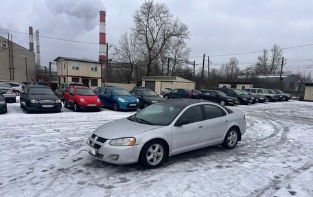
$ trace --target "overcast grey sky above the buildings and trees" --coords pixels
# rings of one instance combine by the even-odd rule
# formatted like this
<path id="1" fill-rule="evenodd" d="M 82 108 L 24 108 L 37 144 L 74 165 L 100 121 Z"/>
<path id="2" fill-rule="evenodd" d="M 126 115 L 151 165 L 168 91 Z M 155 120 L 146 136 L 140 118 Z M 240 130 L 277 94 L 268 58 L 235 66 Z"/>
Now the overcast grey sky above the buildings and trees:
<path id="1" fill-rule="evenodd" d="M 256 62 L 259 54 L 216 56 L 270 49 L 274 44 L 285 49 L 285 69 L 313 74 L 313 1 L 207 1 L 171 0 L 165 2 L 174 16 L 189 26 L 192 48 L 189 60 L 202 65 L 203 54 L 211 56 L 211 68 L 235 56 L 240 68 Z M 8 31 L 28 33 L 28 27 L 40 36 L 99 43 L 99 11 L 106 11 L 106 40 L 117 46 L 119 36 L 130 31 L 132 14 L 139 0 L 2 0 L 0 35 Z M 5 29 L 5 30 L 3 30 Z M 28 48 L 27 34 L 12 33 L 13 41 Z M 36 43 L 35 49 L 36 49 Z M 73 43 L 40 38 L 41 65 L 58 56 L 98 60 L 97 44 Z M 109 53 L 110 56 L 110 53 Z"/>

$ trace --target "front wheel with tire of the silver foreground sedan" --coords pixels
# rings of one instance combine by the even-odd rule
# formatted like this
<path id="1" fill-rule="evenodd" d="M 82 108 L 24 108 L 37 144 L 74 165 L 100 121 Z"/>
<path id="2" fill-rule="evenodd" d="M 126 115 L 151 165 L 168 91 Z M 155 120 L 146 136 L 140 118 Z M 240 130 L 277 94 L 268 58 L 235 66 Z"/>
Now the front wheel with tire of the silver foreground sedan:
<path id="1" fill-rule="evenodd" d="M 163 141 L 154 139 L 148 141 L 141 149 L 139 161 L 147 168 L 156 168 L 163 165 L 167 157 L 167 148 Z"/>

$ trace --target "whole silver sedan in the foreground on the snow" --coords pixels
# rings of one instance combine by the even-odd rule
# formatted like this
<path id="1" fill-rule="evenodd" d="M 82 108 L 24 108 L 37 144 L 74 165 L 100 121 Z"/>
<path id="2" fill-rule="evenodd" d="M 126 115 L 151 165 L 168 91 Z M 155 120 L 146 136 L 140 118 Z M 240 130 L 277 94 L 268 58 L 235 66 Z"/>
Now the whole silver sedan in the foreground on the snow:
<path id="1" fill-rule="evenodd" d="M 242 111 L 203 100 L 165 100 L 100 126 L 89 136 L 87 152 L 108 163 L 154 168 L 198 148 L 235 148 L 245 131 Z"/>

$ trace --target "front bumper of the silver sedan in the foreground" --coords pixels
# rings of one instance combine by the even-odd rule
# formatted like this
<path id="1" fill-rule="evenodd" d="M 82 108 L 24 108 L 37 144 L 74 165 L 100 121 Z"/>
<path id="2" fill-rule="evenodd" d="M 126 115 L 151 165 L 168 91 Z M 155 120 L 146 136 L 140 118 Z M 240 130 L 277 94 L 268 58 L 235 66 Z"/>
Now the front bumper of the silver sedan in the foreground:
<path id="1" fill-rule="evenodd" d="M 138 162 L 142 146 L 112 146 L 109 144 L 109 141 L 111 140 L 102 143 L 100 148 L 97 147 L 97 149 L 95 146 L 92 146 L 92 143 L 88 140 L 86 143 L 87 152 L 91 156 L 107 163 L 124 165 Z M 97 146 L 99 146 L 99 144 Z M 95 150 L 95 152 L 93 152 L 93 150 Z"/>

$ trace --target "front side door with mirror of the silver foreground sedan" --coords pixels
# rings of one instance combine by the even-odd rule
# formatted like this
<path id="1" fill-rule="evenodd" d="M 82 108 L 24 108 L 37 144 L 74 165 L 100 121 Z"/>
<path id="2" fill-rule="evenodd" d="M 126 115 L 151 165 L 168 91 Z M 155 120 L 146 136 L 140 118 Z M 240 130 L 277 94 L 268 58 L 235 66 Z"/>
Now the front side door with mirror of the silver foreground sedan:
<path id="1" fill-rule="evenodd" d="M 177 121 L 182 119 L 189 120 L 189 124 L 182 126 L 172 124 L 173 154 L 200 148 L 207 141 L 207 124 L 200 105 L 188 108 Z"/>

